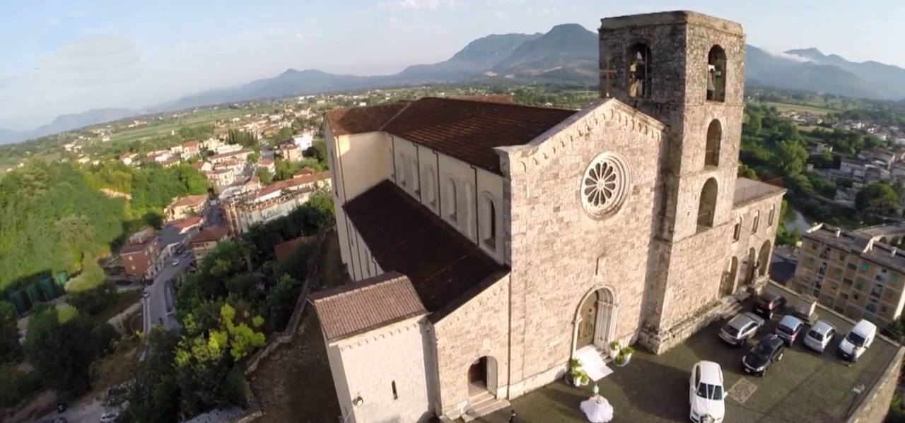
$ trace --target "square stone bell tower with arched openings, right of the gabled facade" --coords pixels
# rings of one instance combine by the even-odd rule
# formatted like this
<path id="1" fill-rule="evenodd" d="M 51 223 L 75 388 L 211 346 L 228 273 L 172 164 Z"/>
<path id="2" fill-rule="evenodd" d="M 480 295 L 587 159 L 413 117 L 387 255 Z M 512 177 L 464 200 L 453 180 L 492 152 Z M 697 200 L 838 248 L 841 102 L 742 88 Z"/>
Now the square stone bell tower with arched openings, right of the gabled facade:
<path id="1" fill-rule="evenodd" d="M 693 12 L 601 20 L 600 89 L 669 126 L 654 216 L 647 340 L 659 350 L 673 327 L 719 295 L 729 242 L 744 108 L 741 25 Z M 643 339 L 645 341 L 645 339 Z"/>

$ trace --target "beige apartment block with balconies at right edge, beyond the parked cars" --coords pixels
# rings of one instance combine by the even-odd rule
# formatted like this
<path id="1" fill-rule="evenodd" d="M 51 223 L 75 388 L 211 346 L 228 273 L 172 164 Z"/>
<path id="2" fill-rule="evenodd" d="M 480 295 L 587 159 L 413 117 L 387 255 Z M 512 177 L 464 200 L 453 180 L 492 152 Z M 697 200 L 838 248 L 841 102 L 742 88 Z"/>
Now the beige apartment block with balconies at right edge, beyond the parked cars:
<path id="1" fill-rule="evenodd" d="M 905 305 L 905 251 L 882 235 L 820 224 L 805 232 L 792 286 L 836 312 L 884 327 Z"/>

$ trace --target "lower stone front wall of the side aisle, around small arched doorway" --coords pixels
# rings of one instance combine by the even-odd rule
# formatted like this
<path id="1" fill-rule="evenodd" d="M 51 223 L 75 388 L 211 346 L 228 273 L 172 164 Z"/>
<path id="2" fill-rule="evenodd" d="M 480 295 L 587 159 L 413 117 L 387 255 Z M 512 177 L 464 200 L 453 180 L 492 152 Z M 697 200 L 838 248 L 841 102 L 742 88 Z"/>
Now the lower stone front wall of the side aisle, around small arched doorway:
<path id="1" fill-rule="evenodd" d="M 433 324 L 439 386 L 438 414 L 458 418 L 468 405 L 468 370 L 488 357 L 495 372 L 487 381 L 491 394 L 509 395 L 510 277 L 503 277 L 468 303 Z"/>

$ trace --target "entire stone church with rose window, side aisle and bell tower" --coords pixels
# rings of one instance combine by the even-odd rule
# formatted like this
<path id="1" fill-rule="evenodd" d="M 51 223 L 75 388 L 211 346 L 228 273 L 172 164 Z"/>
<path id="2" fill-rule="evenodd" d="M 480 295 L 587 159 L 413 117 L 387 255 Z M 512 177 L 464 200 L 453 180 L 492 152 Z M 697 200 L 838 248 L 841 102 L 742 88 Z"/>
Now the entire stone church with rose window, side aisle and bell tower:
<path id="1" fill-rule="evenodd" d="M 342 261 L 310 296 L 343 417 L 466 420 L 761 287 L 782 188 L 737 178 L 745 34 L 605 18 L 580 110 L 425 98 L 325 118 Z M 631 371 L 627 368 L 626 371 Z"/>

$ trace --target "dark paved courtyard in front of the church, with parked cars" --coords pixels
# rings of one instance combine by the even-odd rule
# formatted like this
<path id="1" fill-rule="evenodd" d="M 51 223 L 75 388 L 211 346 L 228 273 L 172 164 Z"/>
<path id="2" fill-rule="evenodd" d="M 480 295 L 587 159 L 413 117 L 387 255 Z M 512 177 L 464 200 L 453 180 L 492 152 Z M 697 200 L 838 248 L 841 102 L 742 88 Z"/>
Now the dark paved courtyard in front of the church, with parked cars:
<path id="1" fill-rule="evenodd" d="M 851 328 L 843 319 L 817 311 L 842 334 Z M 772 333 L 779 318 L 775 315 L 761 334 Z M 855 400 L 853 387 L 863 383 L 870 388 L 898 350 L 897 345 L 877 339 L 859 362 L 849 366 L 835 355 L 843 335 L 836 335 L 824 354 L 807 349 L 799 338 L 786 350 L 785 358 L 759 378 L 741 369 L 741 357 L 748 347 L 735 348 L 719 340 L 722 323 L 710 324 L 668 353 L 637 352 L 629 365 L 615 367 L 613 374 L 599 382 L 600 394 L 614 406 L 613 421 L 690 421 L 688 379 L 691 366 L 700 360 L 719 362 L 726 390 L 740 381 L 726 400 L 728 422 L 844 421 Z M 587 387 L 579 390 L 563 381 L 551 383 L 513 401 L 516 421 L 586 422 L 578 404 L 588 396 Z M 503 409 L 479 421 L 505 423 L 509 418 L 510 409 Z"/>

